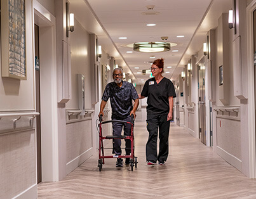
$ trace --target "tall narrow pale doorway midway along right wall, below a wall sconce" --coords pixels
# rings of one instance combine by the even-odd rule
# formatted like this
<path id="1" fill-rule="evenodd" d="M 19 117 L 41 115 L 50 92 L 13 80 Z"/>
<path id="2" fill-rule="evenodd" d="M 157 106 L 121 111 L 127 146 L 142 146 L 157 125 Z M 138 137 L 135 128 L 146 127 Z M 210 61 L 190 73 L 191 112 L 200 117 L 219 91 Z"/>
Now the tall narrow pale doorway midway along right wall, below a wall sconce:
<path id="1" fill-rule="evenodd" d="M 199 139 L 206 145 L 205 61 L 198 63 Z"/>

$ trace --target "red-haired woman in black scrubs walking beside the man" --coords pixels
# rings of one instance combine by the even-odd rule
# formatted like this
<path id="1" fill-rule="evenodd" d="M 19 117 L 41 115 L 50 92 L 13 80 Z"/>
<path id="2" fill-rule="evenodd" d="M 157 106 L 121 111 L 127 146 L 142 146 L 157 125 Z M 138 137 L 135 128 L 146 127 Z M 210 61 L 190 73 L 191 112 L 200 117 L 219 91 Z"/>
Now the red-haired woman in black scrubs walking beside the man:
<path id="1" fill-rule="evenodd" d="M 173 98 L 176 97 L 173 83 L 163 77 L 163 58 L 154 60 L 151 72 L 154 76 L 148 79 L 139 98 L 147 97 L 147 131 L 149 139 L 146 144 L 147 165 L 165 165 L 168 157 L 168 138 L 170 120 L 173 117 Z M 159 129 L 159 153 L 157 153 Z"/>

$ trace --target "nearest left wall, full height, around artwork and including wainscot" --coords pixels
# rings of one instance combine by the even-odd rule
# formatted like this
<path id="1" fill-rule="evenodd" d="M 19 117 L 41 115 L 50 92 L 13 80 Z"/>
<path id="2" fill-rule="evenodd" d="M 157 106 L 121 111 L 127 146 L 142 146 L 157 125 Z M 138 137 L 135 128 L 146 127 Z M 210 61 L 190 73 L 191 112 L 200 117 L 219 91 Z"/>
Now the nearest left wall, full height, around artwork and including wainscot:
<path id="1" fill-rule="evenodd" d="M 26 0 L 27 79 L 3 78 L 0 70 L 0 113 L 2 114 L 35 112 L 31 8 L 32 0 Z M 1 31 L 4 30 L 1 29 Z M 1 67 L 3 67 L 2 64 Z M 14 128 L 13 119 L 17 118 L 18 116 L 10 116 L 0 120 L 0 198 L 29 194 L 36 198 L 36 130 L 34 125 L 29 125 L 29 119 L 25 116 L 17 121 L 16 128 Z"/>

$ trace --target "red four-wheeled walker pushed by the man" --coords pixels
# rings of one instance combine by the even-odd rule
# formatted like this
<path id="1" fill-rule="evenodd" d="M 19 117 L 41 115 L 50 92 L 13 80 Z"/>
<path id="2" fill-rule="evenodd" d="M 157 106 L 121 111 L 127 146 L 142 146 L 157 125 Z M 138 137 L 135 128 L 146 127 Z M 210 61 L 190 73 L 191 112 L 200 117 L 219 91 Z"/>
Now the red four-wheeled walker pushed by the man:
<path id="1" fill-rule="evenodd" d="M 134 119 L 133 115 L 131 115 L 131 122 L 126 122 L 123 120 L 107 120 L 102 122 L 102 115 L 100 115 L 100 124 L 98 124 L 98 127 L 100 129 L 99 131 L 99 145 L 98 145 L 98 169 L 99 171 L 102 170 L 102 164 L 105 164 L 105 158 L 130 158 L 130 166 L 131 171 L 133 171 L 133 167 L 135 165 L 135 168 L 137 168 L 137 157 L 135 157 L 134 150 L 134 136 L 133 136 L 133 127 L 134 127 Z M 102 124 L 112 123 L 112 122 L 121 122 L 124 124 L 131 124 L 131 134 L 130 136 L 102 136 Z M 131 155 L 104 155 L 104 146 L 103 146 L 103 140 L 104 139 L 130 139 L 131 140 Z M 101 154 L 102 153 L 102 154 Z"/>

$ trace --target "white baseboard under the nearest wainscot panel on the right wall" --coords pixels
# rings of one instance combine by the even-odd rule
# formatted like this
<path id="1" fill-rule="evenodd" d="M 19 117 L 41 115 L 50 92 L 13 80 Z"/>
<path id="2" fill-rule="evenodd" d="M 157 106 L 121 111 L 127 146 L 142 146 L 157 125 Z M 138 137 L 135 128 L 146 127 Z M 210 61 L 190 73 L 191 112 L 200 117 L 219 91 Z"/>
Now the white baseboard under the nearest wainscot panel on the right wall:
<path id="1" fill-rule="evenodd" d="M 236 169 L 240 171 L 242 170 L 242 161 L 239 160 L 237 157 L 234 157 L 234 155 L 231 155 L 230 153 L 220 148 L 219 146 L 216 147 L 216 152 L 220 157 L 226 160 L 233 167 L 236 167 Z"/>

